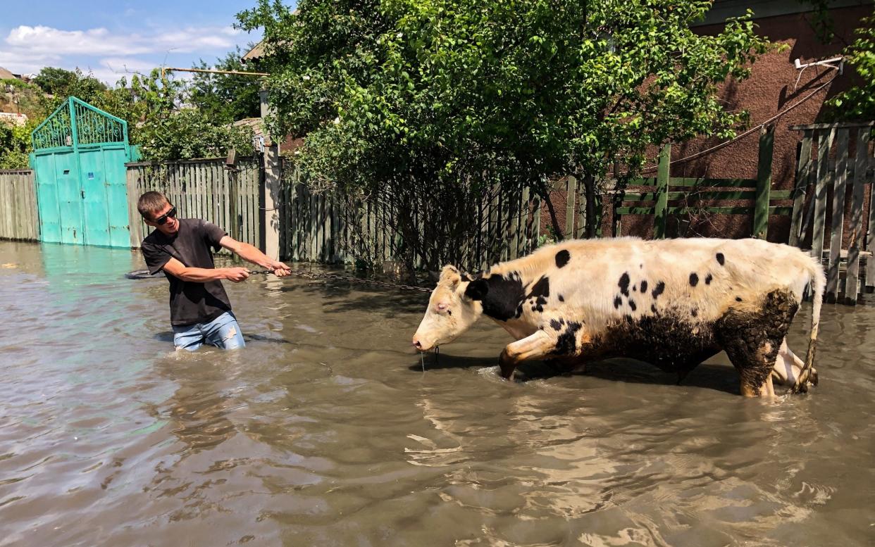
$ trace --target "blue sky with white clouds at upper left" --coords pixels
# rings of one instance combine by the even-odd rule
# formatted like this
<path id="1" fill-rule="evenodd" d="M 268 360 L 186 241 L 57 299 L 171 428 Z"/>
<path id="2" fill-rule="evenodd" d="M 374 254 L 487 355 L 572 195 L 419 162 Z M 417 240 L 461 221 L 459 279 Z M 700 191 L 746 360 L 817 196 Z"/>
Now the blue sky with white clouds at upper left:
<path id="1" fill-rule="evenodd" d="M 293 2 L 288 2 L 293 5 Z M 38 73 L 81 68 L 113 84 L 155 66 L 214 63 L 261 32 L 236 31 L 238 11 L 255 0 L 19 0 L 0 10 L 0 66 Z M 182 76 L 182 74 L 180 74 Z"/>

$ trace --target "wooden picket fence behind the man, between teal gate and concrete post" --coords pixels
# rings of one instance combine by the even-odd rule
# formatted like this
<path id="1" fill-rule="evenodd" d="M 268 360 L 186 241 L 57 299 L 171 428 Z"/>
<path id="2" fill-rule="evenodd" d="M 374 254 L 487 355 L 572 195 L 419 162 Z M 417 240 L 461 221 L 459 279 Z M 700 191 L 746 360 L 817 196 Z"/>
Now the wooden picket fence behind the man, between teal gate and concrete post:
<path id="1" fill-rule="evenodd" d="M 165 194 L 180 218 L 204 218 L 220 225 L 239 241 L 260 246 L 260 176 L 255 158 L 241 158 L 234 167 L 225 158 L 177 162 L 127 163 L 130 246 L 138 248 L 152 228 L 137 211 L 137 197 L 149 190 Z"/>

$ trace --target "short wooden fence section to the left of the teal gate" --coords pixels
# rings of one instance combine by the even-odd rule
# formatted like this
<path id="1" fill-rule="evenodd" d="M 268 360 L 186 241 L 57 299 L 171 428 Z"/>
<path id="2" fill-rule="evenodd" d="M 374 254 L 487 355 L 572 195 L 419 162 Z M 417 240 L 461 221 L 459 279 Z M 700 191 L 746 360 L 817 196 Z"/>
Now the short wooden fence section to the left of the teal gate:
<path id="1" fill-rule="evenodd" d="M 0 239 L 39 239 L 37 193 L 31 170 L 0 170 Z"/>

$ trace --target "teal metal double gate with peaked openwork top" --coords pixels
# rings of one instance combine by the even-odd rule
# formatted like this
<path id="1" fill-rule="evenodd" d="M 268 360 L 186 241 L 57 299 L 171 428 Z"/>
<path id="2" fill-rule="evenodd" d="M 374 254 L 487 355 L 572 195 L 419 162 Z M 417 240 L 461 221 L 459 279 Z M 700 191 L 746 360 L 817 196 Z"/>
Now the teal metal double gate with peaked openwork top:
<path id="1" fill-rule="evenodd" d="M 39 239 L 130 247 L 124 164 L 136 161 L 126 121 L 68 98 L 31 133 Z"/>

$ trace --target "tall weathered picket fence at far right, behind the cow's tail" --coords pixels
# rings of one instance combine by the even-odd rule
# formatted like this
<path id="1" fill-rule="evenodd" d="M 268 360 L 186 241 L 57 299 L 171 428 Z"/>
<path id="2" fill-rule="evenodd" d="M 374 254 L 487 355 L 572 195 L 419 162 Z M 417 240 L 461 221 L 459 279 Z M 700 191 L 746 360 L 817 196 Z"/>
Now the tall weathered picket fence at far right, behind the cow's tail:
<path id="1" fill-rule="evenodd" d="M 861 292 L 875 290 L 873 126 L 875 122 L 870 121 L 793 127 L 803 135 L 789 244 L 810 248 L 812 255 L 821 257 L 827 268 L 826 300 L 830 302 L 856 304 Z M 845 218 L 848 213 L 850 218 Z M 848 238 L 844 238 L 845 225 L 850 230 Z M 843 249 L 845 239 L 847 248 Z"/>

